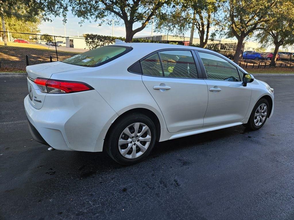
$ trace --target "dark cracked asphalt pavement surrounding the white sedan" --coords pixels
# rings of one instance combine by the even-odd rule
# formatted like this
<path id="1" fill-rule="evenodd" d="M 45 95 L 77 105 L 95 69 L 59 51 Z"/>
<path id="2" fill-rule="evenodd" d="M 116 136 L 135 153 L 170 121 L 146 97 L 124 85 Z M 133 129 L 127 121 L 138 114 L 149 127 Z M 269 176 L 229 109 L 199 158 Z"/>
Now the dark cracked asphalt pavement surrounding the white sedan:
<path id="1" fill-rule="evenodd" d="M 156 143 L 121 166 L 106 153 L 48 151 L 31 140 L 25 78 L 0 78 L 0 219 L 294 219 L 294 77 L 271 119 Z"/>

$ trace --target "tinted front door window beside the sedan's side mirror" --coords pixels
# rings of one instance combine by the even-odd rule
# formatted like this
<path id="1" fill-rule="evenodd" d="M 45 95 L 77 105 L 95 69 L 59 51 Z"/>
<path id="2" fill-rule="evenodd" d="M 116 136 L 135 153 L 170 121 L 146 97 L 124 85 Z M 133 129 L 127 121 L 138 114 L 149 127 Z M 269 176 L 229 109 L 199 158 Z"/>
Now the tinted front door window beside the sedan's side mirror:
<path id="1" fill-rule="evenodd" d="M 209 53 L 198 53 L 208 79 L 241 81 L 237 67 L 227 60 Z"/>

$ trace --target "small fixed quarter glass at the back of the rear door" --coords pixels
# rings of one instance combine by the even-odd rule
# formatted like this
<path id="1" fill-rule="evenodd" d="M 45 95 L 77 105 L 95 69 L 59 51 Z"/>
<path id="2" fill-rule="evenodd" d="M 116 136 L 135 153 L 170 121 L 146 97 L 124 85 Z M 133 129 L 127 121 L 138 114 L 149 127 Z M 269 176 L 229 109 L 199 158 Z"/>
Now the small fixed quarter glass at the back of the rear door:
<path id="1" fill-rule="evenodd" d="M 158 53 L 155 53 L 145 60 L 141 61 L 141 65 L 144 75 L 163 76 Z"/>

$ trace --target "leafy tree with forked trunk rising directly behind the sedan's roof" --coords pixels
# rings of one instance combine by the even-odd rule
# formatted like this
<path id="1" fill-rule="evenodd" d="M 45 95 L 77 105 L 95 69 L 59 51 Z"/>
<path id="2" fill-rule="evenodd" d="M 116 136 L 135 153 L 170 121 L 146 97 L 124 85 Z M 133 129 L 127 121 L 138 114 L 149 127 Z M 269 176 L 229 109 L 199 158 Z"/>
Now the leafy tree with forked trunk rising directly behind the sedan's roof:
<path id="1" fill-rule="evenodd" d="M 160 14 L 162 8 L 171 0 L 60 0 L 70 3 L 72 13 L 84 20 L 111 23 L 112 19 L 122 20 L 126 27 L 126 41 L 131 42 L 133 35 L 142 31 L 150 19 Z M 134 23 L 141 25 L 133 29 Z"/>

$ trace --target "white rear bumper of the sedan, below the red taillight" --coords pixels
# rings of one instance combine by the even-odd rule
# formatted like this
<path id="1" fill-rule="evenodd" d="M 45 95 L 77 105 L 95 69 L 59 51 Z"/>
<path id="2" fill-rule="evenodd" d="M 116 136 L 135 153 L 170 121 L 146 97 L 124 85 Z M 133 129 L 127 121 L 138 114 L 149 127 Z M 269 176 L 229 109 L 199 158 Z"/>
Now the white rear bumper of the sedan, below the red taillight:
<path id="1" fill-rule="evenodd" d="M 26 96 L 24 107 L 34 139 L 56 150 L 102 151 L 106 132 L 118 117 L 96 90 L 46 94 L 41 109 Z"/>

